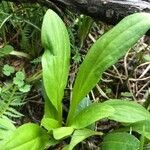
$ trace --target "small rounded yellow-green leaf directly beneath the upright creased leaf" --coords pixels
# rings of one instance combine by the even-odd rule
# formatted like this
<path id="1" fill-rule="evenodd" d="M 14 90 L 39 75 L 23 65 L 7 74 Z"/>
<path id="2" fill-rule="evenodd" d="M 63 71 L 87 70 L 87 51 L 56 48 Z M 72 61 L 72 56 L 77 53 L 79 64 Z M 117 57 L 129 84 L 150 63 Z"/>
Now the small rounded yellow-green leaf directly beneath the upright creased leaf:
<path id="1" fill-rule="evenodd" d="M 60 127 L 59 122 L 52 118 L 43 118 L 41 121 L 41 125 L 48 131 Z"/>

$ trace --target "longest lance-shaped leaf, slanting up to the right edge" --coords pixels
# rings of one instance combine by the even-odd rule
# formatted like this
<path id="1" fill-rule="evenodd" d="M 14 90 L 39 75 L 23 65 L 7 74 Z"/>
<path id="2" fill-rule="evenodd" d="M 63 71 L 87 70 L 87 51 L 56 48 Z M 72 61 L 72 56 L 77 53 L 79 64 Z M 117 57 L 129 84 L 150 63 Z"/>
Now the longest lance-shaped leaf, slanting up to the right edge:
<path id="1" fill-rule="evenodd" d="M 124 18 L 118 25 L 98 39 L 79 68 L 68 120 L 77 104 L 99 81 L 102 73 L 117 62 L 150 28 L 150 14 L 136 13 Z"/>

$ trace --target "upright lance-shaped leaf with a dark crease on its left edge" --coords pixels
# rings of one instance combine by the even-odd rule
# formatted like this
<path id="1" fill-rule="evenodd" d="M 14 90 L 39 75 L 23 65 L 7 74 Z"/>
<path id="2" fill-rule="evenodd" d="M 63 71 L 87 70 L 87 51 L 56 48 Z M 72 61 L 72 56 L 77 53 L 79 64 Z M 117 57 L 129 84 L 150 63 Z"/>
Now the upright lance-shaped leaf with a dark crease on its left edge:
<path id="1" fill-rule="evenodd" d="M 68 79 L 70 42 L 63 21 L 52 10 L 44 16 L 41 36 L 45 48 L 42 56 L 44 87 L 51 103 L 60 111 Z"/>

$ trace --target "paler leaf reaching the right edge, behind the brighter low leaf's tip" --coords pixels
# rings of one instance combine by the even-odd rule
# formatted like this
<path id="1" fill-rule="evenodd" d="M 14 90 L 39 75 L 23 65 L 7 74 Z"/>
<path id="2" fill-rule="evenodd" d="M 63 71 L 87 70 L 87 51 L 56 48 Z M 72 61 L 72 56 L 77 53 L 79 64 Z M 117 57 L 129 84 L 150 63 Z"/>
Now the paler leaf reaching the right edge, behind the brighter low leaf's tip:
<path id="1" fill-rule="evenodd" d="M 134 123 L 150 118 L 150 113 L 140 104 L 125 100 L 108 100 L 104 104 L 113 107 L 116 111 L 109 119 L 123 122 Z"/>

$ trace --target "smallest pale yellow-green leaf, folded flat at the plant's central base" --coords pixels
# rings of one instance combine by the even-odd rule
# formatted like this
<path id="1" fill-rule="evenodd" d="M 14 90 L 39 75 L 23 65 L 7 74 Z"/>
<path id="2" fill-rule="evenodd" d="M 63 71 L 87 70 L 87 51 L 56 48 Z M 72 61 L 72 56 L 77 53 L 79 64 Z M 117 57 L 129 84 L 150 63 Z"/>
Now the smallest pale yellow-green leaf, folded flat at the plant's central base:
<path id="1" fill-rule="evenodd" d="M 71 135 L 73 131 L 74 129 L 72 127 L 61 127 L 53 130 L 53 136 L 56 140 L 60 140 Z"/>

